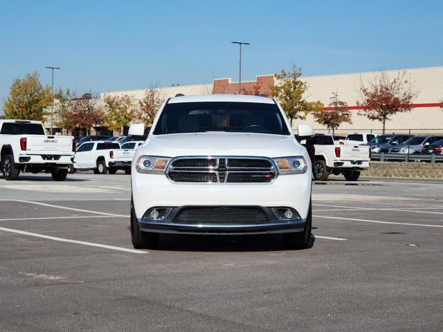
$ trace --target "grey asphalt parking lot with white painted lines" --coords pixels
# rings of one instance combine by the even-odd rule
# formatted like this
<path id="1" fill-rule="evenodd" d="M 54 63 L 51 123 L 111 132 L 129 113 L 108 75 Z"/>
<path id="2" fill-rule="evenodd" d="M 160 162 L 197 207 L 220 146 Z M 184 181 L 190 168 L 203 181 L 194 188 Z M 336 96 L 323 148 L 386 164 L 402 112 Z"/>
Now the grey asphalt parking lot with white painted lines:
<path id="1" fill-rule="evenodd" d="M 0 177 L 0 331 L 442 331 L 443 181 L 314 185 L 313 246 L 163 236 L 129 176 Z"/>

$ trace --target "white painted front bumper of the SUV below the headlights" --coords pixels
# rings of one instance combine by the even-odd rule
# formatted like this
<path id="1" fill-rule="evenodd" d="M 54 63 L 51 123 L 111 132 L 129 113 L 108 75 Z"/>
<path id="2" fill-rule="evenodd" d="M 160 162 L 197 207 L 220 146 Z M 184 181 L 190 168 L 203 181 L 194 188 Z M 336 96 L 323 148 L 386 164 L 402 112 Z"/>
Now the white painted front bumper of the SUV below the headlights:
<path id="1" fill-rule="evenodd" d="M 147 210 L 154 207 L 183 206 L 260 206 L 287 207 L 298 212 L 300 219 L 305 220 L 311 201 L 311 172 L 278 176 L 273 183 L 171 183 L 165 174 L 141 174 L 132 165 L 132 197 L 136 218 L 142 228 L 170 228 L 168 223 L 161 225 L 143 220 Z M 143 224 L 144 223 L 144 224 Z M 244 225 L 257 228 L 297 228 L 294 225 Z M 302 221 L 304 225 L 304 221 Z M 174 224 L 173 226 L 177 226 Z M 185 225 L 186 227 L 189 225 Z M 206 225 L 209 229 L 211 225 Z M 225 228 L 226 225 L 222 227 Z M 193 227 L 193 226 L 192 226 Z M 215 225 L 218 229 L 218 226 Z M 237 228 L 237 227 L 235 227 Z M 195 228 L 192 228 L 195 229 Z M 173 230 L 170 228 L 170 230 Z M 246 230 L 246 229 L 244 229 Z M 295 231 L 295 230 L 292 230 Z"/>

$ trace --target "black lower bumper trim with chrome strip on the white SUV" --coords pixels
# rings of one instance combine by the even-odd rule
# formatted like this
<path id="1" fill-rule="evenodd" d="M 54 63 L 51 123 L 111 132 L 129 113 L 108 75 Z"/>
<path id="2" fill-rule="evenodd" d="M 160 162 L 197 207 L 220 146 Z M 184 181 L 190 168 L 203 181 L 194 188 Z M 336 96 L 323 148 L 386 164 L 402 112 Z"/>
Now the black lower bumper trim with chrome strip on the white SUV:
<path id="1" fill-rule="evenodd" d="M 271 208 L 260 208 L 266 213 L 269 222 L 266 223 L 245 223 L 238 220 L 235 223 L 214 223 L 201 220 L 201 223 L 177 223 L 174 218 L 183 208 L 174 207 L 165 219 L 156 221 L 150 219 L 145 214 L 142 219 L 138 219 L 138 225 L 144 232 L 175 233 L 175 234 L 273 234 L 284 232 L 302 232 L 305 229 L 306 219 L 279 219 Z M 215 208 L 215 207 L 214 207 Z M 238 206 L 237 206 L 238 208 Z"/>

